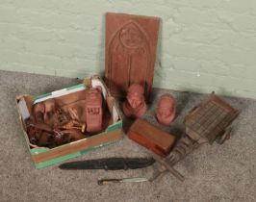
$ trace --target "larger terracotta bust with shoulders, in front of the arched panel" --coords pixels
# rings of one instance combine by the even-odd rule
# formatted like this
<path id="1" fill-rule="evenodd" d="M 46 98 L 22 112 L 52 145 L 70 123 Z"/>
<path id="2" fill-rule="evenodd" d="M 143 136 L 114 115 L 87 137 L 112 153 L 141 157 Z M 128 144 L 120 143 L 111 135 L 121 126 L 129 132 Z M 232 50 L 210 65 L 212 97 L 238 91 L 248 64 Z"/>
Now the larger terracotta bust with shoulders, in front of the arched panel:
<path id="1" fill-rule="evenodd" d="M 126 101 L 123 103 L 123 114 L 128 117 L 141 117 L 146 112 L 144 88 L 133 84 L 127 90 Z"/>

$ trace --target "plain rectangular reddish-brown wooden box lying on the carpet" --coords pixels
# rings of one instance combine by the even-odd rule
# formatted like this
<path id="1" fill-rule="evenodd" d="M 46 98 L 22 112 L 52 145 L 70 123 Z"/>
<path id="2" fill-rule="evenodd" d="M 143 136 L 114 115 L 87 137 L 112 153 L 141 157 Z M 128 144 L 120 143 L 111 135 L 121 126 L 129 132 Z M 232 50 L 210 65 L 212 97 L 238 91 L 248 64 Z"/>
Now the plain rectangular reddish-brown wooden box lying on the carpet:
<path id="1" fill-rule="evenodd" d="M 173 135 L 141 118 L 130 127 L 128 137 L 162 157 L 166 157 L 175 141 Z"/>

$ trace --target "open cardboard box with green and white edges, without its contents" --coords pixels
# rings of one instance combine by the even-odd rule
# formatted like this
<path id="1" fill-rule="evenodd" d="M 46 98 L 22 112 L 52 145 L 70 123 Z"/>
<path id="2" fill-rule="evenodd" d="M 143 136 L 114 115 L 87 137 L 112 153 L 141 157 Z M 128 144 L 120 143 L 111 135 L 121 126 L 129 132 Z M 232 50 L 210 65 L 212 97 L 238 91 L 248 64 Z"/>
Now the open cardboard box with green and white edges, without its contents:
<path id="1" fill-rule="evenodd" d="M 72 141 L 51 149 L 46 147 L 38 147 L 29 141 L 27 132 L 25 130 L 25 120 L 30 117 L 33 104 L 50 98 L 62 99 L 63 97 L 68 97 L 70 94 L 81 94 L 83 93 L 83 90 L 90 86 L 93 88 L 102 88 L 103 98 L 105 103 L 107 103 L 107 108 L 111 114 L 111 124 L 108 125 L 104 131 L 102 131 L 100 134 L 93 135 L 90 138 Z M 117 104 L 115 103 L 115 98 L 110 94 L 110 91 L 108 88 L 106 88 L 104 82 L 98 76 L 92 76 L 85 79 L 84 84 L 64 88 L 36 97 L 31 95 L 20 95 L 16 97 L 16 105 L 20 116 L 19 118 L 22 123 L 24 136 L 29 151 L 32 155 L 32 160 L 37 168 L 44 167 L 49 164 L 57 164 L 63 162 L 64 160 L 80 156 L 94 149 L 115 143 L 115 141 L 122 139 L 123 137 L 122 120 Z"/>

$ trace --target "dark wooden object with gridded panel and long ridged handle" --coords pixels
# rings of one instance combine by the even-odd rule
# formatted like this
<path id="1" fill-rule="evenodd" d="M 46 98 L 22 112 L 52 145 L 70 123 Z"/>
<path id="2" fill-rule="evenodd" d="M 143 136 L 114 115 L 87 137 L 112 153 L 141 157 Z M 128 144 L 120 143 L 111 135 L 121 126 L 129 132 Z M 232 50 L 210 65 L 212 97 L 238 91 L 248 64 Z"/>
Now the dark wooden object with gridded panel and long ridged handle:
<path id="1" fill-rule="evenodd" d="M 193 149 L 200 144 L 208 142 L 212 144 L 215 140 L 223 143 L 229 139 L 231 133 L 231 123 L 240 114 L 240 111 L 231 107 L 227 102 L 212 92 L 210 98 L 194 108 L 185 118 L 186 135 L 179 140 L 174 149 L 166 156 L 165 159 L 158 161 L 162 164 L 155 176 L 171 171 L 172 165 L 176 164 Z M 182 175 L 173 173 L 180 180 Z"/>

